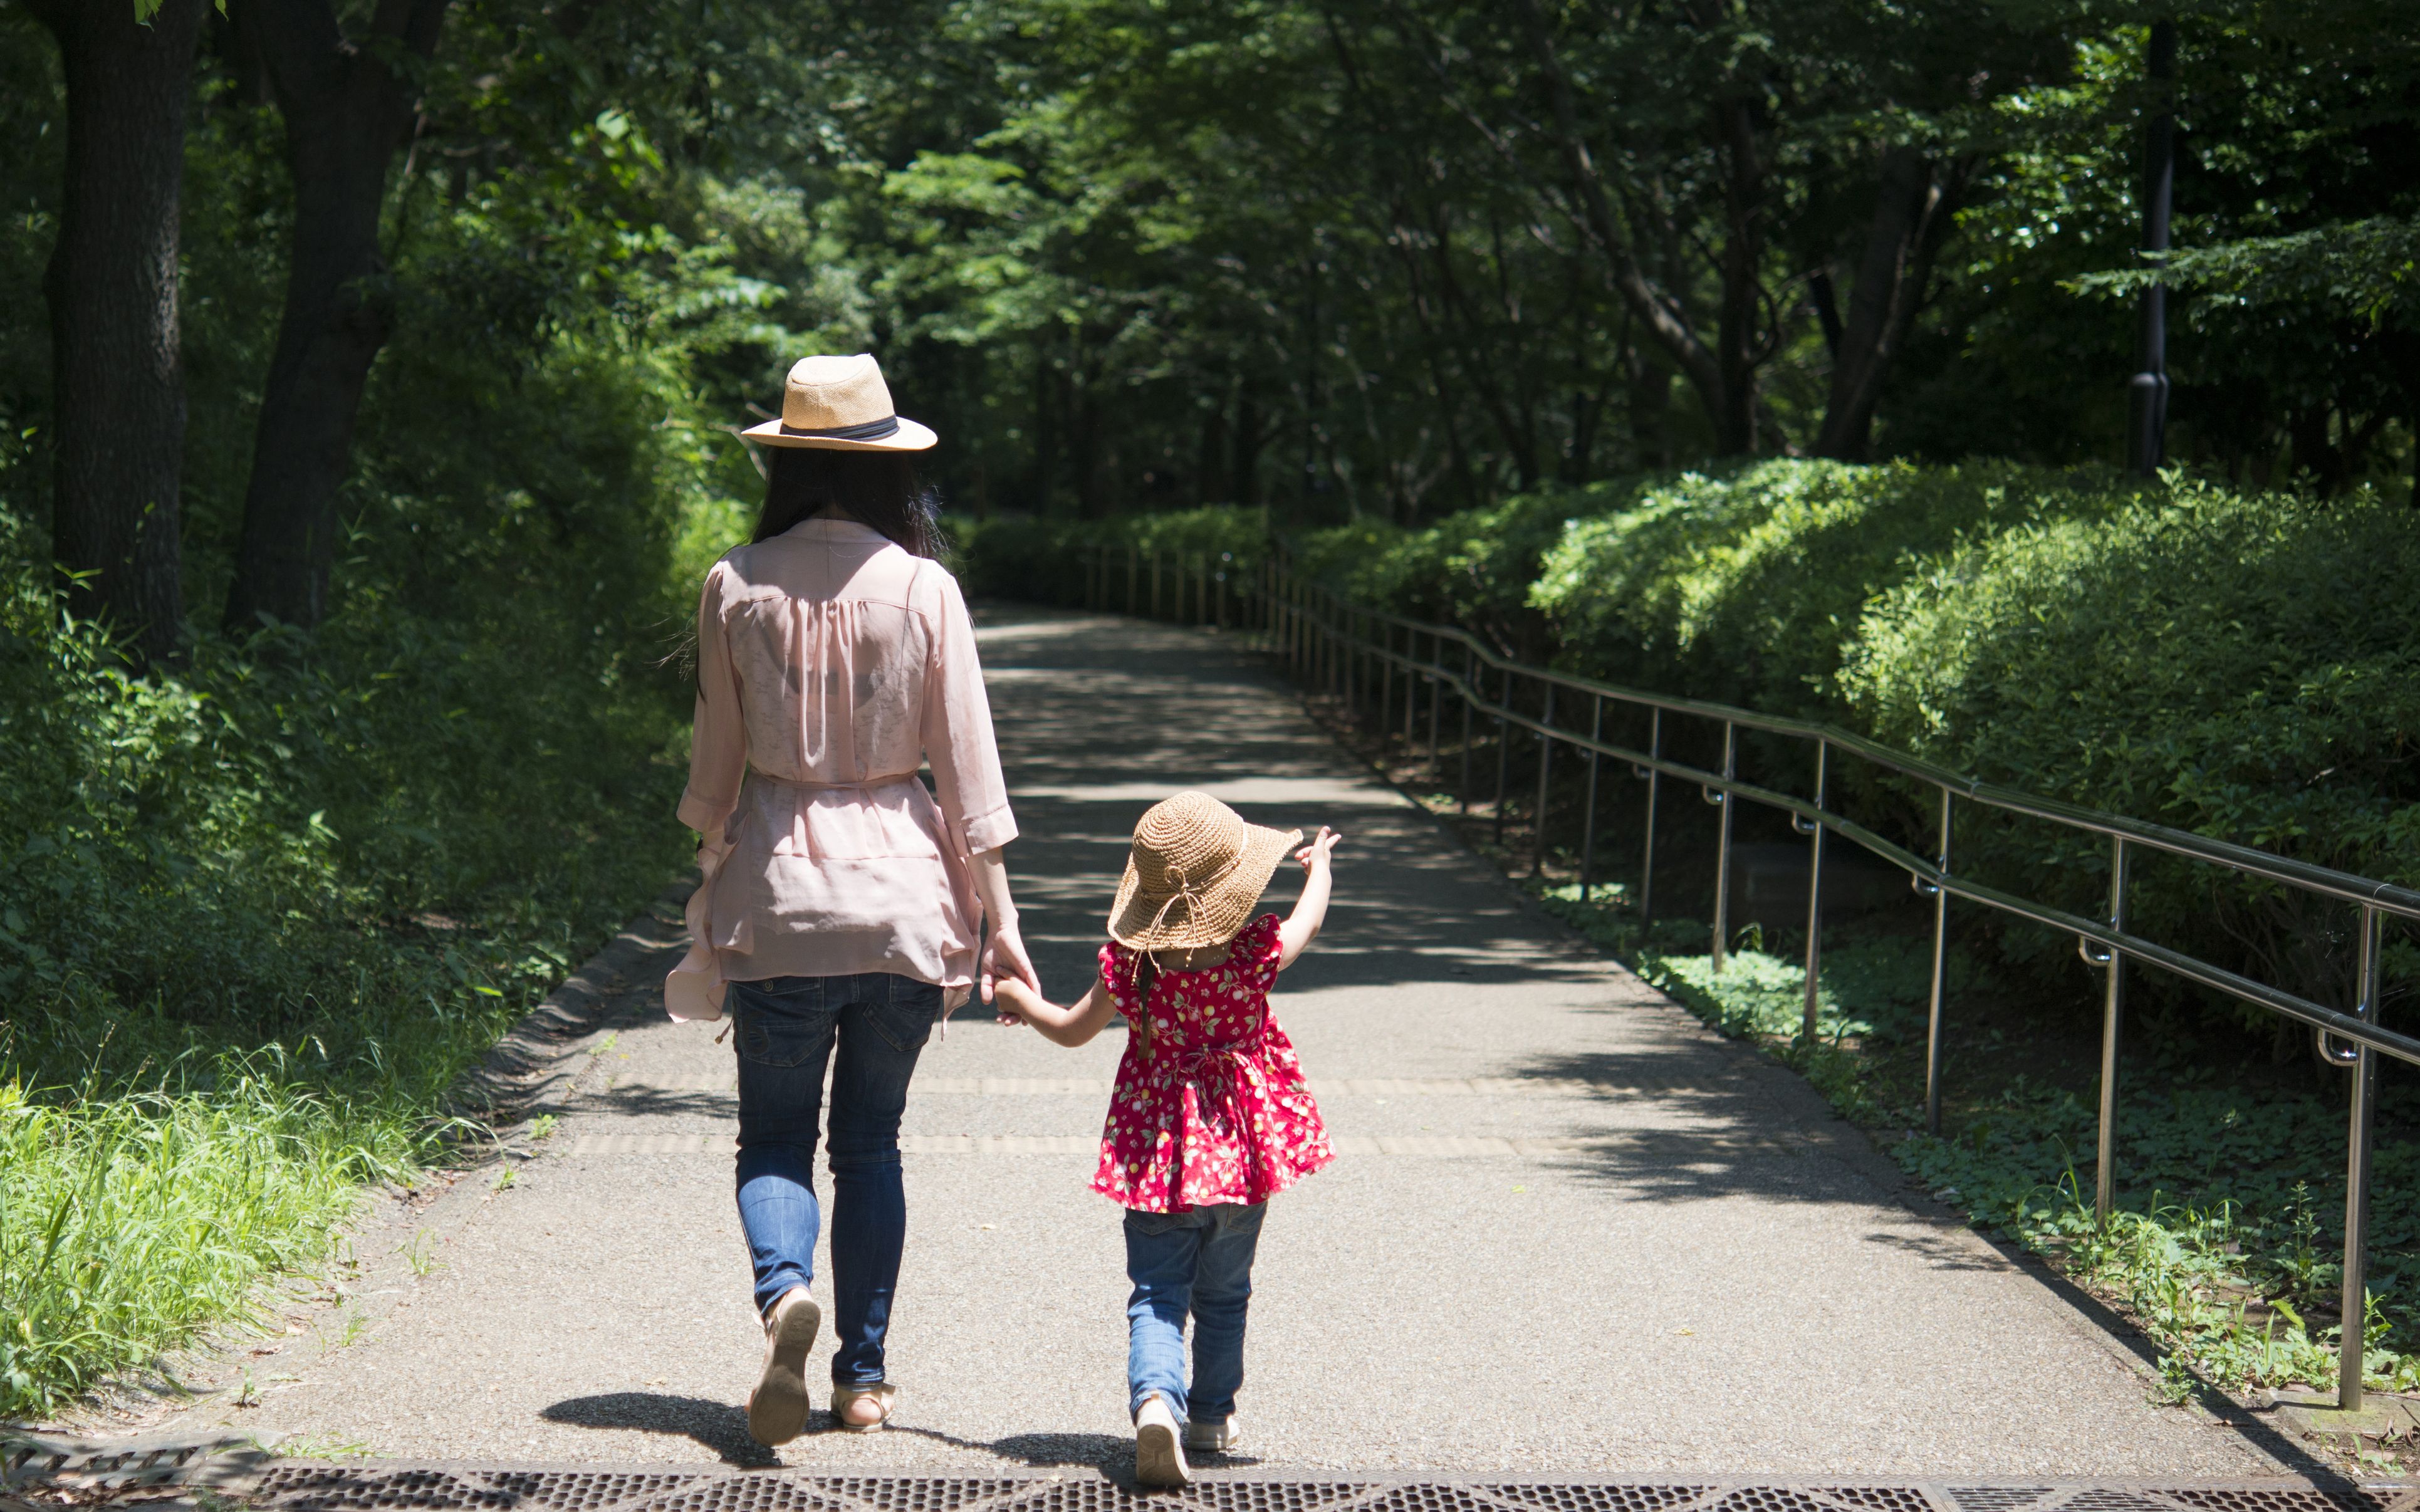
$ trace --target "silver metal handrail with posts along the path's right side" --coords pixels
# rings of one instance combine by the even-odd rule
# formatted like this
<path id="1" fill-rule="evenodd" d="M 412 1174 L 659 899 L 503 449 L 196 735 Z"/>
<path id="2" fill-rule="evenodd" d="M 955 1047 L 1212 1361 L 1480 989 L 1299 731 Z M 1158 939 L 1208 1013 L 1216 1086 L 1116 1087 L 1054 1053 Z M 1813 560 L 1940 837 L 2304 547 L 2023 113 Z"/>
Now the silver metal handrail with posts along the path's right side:
<path id="1" fill-rule="evenodd" d="M 1111 602 L 1113 595 L 1113 556 L 1123 552 L 1125 566 L 1125 593 L 1123 605 Z M 1142 566 L 1150 564 L 1150 612 L 1157 617 L 1162 595 L 1162 573 L 1169 566 L 1169 554 L 1164 552 L 1140 552 L 1135 547 L 1094 547 L 1084 554 L 1084 585 L 1087 605 L 1108 610 L 1123 607 L 1128 612 L 1142 612 Z M 1370 699 L 1370 682 L 1377 682 L 1377 706 L 1379 706 L 1379 731 L 1392 728 L 1394 706 L 1394 682 L 1404 680 L 1404 738 L 1406 745 L 1416 743 L 1416 702 L 1418 692 L 1428 687 L 1428 752 L 1430 764 L 1442 772 L 1440 760 L 1440 711 L 1447 694 L 1462 706 L 1462 777 L 1459 796 L 1464 813 L 1469 810 L 1469 760 L 1471 760 L 1471 716 L 1493 719 L 1503 735 L 1496 743 L 1496 837 L 1503 839 L 1505 820 L 1505 796 L 1510 781 L 1510 731 L 1522 728 L 1537 735 L 1537 825 L 1532 832 L 1532 876 L 1544 868 L 1546 856 L 1546 796 L 1551 791 L 1551 762 L 1554 748 L 1568 745 L 1588 755 L 1588 813 L 1580 842 L 1580 895 L 1588 898 L 1588 888 L 1595 868 L 1595 825 L 1597 825 L 1597 764 L 1602 760 L 1629 762 L 1634 777 L 1648 784 L 1648 810 L 1646 810 L 1646 866 L 1641 873 L 1638 914 L 1646 922 L 1653 914 L 1653 885 L 1655 885 L 1655 808 L 1660 801 L 1663 779 L 1672 777 L 1687 784 L 1696 784 L 1709 803 L 1721 808 L 1718 839 L 1716 839 L 1716 890 L 1713 890 L 1713 970 L 1723 970 L 1728 951 L 1728 866 L 1730 866 L 1730 830 L 1735 801 L 1750 801 L 1764 808 L 1776 808 L 1791 815 L 1791 825 L 1808 835 L 1808 946 L 1805 946 L 1805 1002 L 1803 1002 L 1803 1028 L 1800 1033 L 1813 1045 L 1817 1033 L 1817 968 L 1822 951 L 1822 856 L 1825 837 L 1837 835 L 1839 839 L 1854 842 L 1859 849 L 1897 866 L 1907 873 L 1909 885 L 1934 900 L 1934 958 L 1931 958 L 1931 985 L 1926 1002 L 1926 1052 L 1924 1052 L 1924 1123 L 1926 1130 L 1941 1130 L 1941 1081 L 1943 1081 L 1943 1050 L 1946 1050 L 1946 987 L 1948 987 L 1948 902 L 1960 898 L 1967 902 L 1980 902 L 1996 912 L 2030 919 L 2033 924 L 2072 934 L 2076 939 L 2076 951 L 2088 965 L 2103 968 L 2103 1021 L 2101 1021 L 2101 1108 L 2098 1108 L 2098 1139 L 2096 1139 L 2096 1183 L 2093 1183 L 2093 1210 L 2101 1222 L 2108 1222 L 2115 1202 L 2115 1123 L 2118 1123 L 2118 1045 L 2120 1028 L 2125 1018 L 2125 963 L 2134 960 L 2176 975 L 2197 987 L 2234 997 L 2236 1002 L 2248 1002 L 2253 1006 L 2268 1009 L 2297 1023 L 2304 1023 L 2318 1038 L 2321 1055 L 2330 1064 L 2343 1064 L 2352 1072 L 2352 1108 L 2350 1108 L 2350 1132 L 2347 1132 L 2347 1171 L 2345 1171 L 2345 1282 L 2343 1282 L 2343 1333 L 2340 1333 L 2340 1360 L 2338 1360 L 2338 1401 L 2345 1408 L 2357 1408 L 2362 1401 L 2362 1347 L 2364 1347 L 2364 1299 L 2367 1299 L 2367 1227 L 2369 1227 L 2369 1125 L 2376 1103 L 2376 1057 L 2391 1055 L 2396 1060 L 2420 1064 L 2420 1038 L 2403 1035 L 2376 1023 L 2379 994 L 2381 994 L 2381 948 L 2379 931 L 2384 914 L 2396 914 L 2405 919 L 2420 919 L 2420 890 L 2401 888 L 2393 883 L 2381 883 L 2374 878 L 2355 876 L 2350 871 L 2335 871 L 2330 866 L 2314 866 L 2309 861 L 2294 861 L 2289 856 L 2277 856 L 2253 847 L 2234 844 L 2226 839 L 2209 839 L 2207 835 L 2193 835 L 2188 830 L 2173 830 L 2168 825 L 2154 825 L 2147 820 L 2134 820 L 2115 813 L 2103 813 L 2096 808 L 2081 808 L 2076 803 L 2064 803 L 2057 798 L 2040 798 L 2035 793 L 2023 793 L 2018 789 L 1980 781 L 1948 767 L 1926 762 L 1921 757 L 1892 750 L 1851 731 L 1830 723 L 1813 723 L 1803 719 L 1784 719 L 1771 714 L 1757 714 L 1754 709 L 1738 709 L 1730 704 L 1713 704 L 1706 699 L 1684 699 L 1672 694 L 1646 692 L 1636 687 L 1619 687 L 1614 682 L 1597 682 L 1595 677 L 1580 677 L 1575 673 L 1556 673 L 1551 668 L 1534 668 L 1510 656 L 1503 656 L 1479 636 L 1469 634 L 1454 624 L 1430 624 L 1423 619 L 1411 619 L 1370 605 L 1358 605 L 1350 598 L 1312 583 L 1295 573 L 1283 561 L 1283 549 L 1270 552 L 1256 566 L 1241 566 L 1232 554 L 1220 554 L 1212 566 L 1208 554 L 1188 554 L 1176 559 L 1176 617 L 1183 614 L 1183 583 L 1186 569 L 1195 573 L 1193 595 L 1193 622 L 1212 624 L 1208 612 L 1210 585 L 1217 583 L 1217 617 L 1215 624 L 1227 624 L 1229 600 L 1234 602 L 1239 617 L 1249 622 L 1266 636 L 1268 648 L 1290 668 L 1314 682 L 1329 687 L 1348 706 L 1365 704 Z M 1370 634 L 1375 631 L 1375 636 Z M 1396 651 L 1396 631 L 1401 631 L 1404 648 Z M 1416 651 L 1421 641 L 1428 641 L 1428 658 L 1423 660 Z M 1459 648 L 1459 670 L 1447 665 L 1447 646 Z M 1481 675 L 1496 677 L 1500 697 L 1491 697 L 1481 687 Z M 1512 702 L 1512 682 L 1527 680 L 1542 689 L 1539 714 L 1525 714 Z M 1578 731 L 1563 728 L 1554 721 L 1556 692 L 1583 694 L 1590 699 L 1592 719 L 1590 731 L 1583 735 Z M 1629 704 L 1643 709 L 1650 716 L 1648 750 L 1636 750 L 1604 738 L 1604 704 Z M 1701 719 L 1723 726 L 1723 767 L 1721 772 L 1709 772 L 1689 762 L 1679 762 L 1665 755 L 1665 716 Z M 1798 798 L 1754 781 L 1742 781 L 1738 774 L 1738 735 L 1740 731 L 1757 731 L 1769 735 L 1786 735 L 1815 743 L 1815 798 Z M 1873 762 L 1885 772 L 1929 784 L 1938 791 L 1938 852 L 1926 859 L 1907 847 L 1890 842 L 1873 830 L 1866 830 L 1856 820 L 1834 813 L 1825 806 L 1825 791 L 1830 781 L 1830 757 L 1832 752 L 1856 755 L 1859 760 Z M 1980 881 L 1958 876 L 1951 856 L 1951 839 L 1955 827 L 1955 806 L 1977 803 L 1984 808 L 1996 808 L 2004 813 L 2018 813 L 2026 818 L 2047 820 L 2064 825 L 2069 830 L 2084 830 L 2101 835 L 2110 842 L 2110 912 L 2108 919 L 2086 919 L 2081 914 L 1992 888 Z M 2357 994 L 2355 1011 L 2343 1011 L 2328 1004 L 2311 1002 L 2282 987 L 2258 982 L 2241 973 L 2222 965 L 2212 965 L 2183 951 L 2171 951 L 2156 941 L 2127 931 L 2127 885 L 2132 876 L 2132 852 L 2156 849 L 2173 856 L 2185 856 L 2209 866 L 2224 866 L 2241 876 L 2258 876 L 2287 888 L 2299 888 L 2304 893 L 2316 893 L 2340 902 L 2350 902 L 2362 910 L 2362 931 L 2357 948 Z M 2338 1048 L 2335 1040 L 2345 1045 Z"/>

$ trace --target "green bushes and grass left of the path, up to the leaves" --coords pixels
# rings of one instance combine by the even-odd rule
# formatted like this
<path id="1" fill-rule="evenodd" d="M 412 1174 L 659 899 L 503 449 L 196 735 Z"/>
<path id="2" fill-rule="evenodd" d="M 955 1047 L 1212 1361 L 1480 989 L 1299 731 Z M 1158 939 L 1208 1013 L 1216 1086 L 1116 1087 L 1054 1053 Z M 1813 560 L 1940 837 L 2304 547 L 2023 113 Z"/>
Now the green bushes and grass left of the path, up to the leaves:
<path id="1" fill-rule="evenodd" d="M 750 201 L 692 218 L 632 119 L 513 123 L 523 157 L 390 206 L 402 324 L 315 634 L 196 629 L 131 677 L 58 619 L 39 445 L 0 450 L 0 1415 L 324 1263 L 363 1183 L 445 1159 L 462 1069 L 682 864 L 661 663 L 755 491 L 699 375 L 813 300 L 770 312 L 731 269 Z M 213 106 L 189 150 L 208 619 L 286 210 L 273 119 Z"/>

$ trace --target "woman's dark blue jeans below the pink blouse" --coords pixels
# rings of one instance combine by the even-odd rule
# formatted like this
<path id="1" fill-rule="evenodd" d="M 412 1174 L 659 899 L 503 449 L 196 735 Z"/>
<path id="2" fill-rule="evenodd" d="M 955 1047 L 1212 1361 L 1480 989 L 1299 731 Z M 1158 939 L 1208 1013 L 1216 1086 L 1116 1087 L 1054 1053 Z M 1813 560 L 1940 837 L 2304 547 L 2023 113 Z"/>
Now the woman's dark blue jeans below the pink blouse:
<path id="1" fill-rule="evenodd" d="M 741 1057 L 741 1227 L 757 1311 L 816 1275 L 816 1125 L 832 1067 L 832 1381 L 883 1379 L 883 1333 L 908 1241 L 900 1113 L 941 989 L 886 973 L 731 982 Z"/>

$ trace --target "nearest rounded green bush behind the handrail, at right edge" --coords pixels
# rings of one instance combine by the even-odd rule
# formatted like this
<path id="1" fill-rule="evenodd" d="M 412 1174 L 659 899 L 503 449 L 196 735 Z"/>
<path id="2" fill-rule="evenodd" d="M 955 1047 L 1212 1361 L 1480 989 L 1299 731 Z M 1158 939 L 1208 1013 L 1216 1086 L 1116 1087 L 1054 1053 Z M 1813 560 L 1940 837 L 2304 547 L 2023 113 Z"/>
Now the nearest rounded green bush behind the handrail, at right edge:
<path id="1" fill-rule="evenodd" d="M 2178 481 L 1880 585 L 1839 694 L 1859 728 L 1955 769 L 2410 885 L 2415 569 L 2410 513 L 2376 496 Z M 1980 825 L 1965 844 L 2069 907 L 2105 893 L 2105 842 Z M 2154 939 L 2350 1002 L 2340 910 L 2166 861 L 2132 898 Z"/>

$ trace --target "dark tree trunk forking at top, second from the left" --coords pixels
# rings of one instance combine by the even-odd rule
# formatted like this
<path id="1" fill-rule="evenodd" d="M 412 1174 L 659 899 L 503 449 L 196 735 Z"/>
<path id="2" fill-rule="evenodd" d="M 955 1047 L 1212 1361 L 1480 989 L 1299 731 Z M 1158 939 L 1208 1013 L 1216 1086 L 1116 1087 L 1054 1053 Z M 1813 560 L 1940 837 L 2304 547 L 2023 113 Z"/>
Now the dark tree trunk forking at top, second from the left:
<path id="1" fill-rule="evenodd" d="M 257 48 L 286 119 L 295 230 L 227 629 L 264 617 L 312 627 L 329 607 L 336 491 L 361 389 L 394 329 L 378 215 L 416 102 L 382 58 L 397 48 L 433 56 L 445 0 L 380 0 L 363 41 L 344 34 L 329 0 L 232 0 L 230 19 Z"/>

